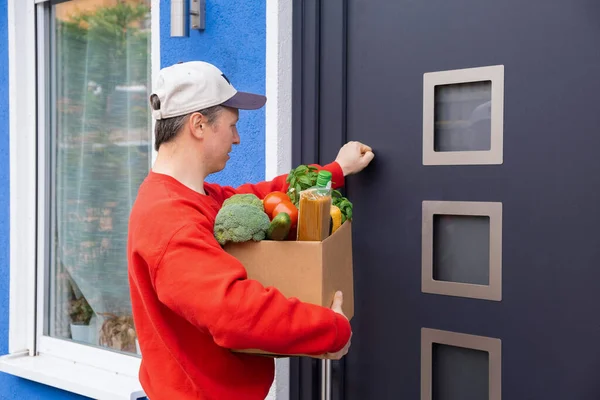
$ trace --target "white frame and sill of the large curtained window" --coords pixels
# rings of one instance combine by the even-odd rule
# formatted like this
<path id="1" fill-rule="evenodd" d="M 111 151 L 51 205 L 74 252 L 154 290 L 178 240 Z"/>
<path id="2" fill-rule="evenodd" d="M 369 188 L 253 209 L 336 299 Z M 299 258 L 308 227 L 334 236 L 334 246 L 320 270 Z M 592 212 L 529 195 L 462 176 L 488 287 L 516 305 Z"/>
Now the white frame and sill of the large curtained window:
<path id="1" fill-rule="evenodd" d="M 0 357 L 0 371 L 92 398 L 143 398 L 139 356 L 42 334 L 45 285 L 38 282 L 47 279 L 48 238 L 38 233 L 44 232 L 49 199 L 43 151 L 48 96 L 43 24 L 48 21 L 42 3 L 48 2 L 8 0 L 10 307 L 8 354 Z M 160 0 L 152 0 L 151 7 L 154 75 L 160 68 Z M 151 162 L 155 158 L 152 148 Z"/>

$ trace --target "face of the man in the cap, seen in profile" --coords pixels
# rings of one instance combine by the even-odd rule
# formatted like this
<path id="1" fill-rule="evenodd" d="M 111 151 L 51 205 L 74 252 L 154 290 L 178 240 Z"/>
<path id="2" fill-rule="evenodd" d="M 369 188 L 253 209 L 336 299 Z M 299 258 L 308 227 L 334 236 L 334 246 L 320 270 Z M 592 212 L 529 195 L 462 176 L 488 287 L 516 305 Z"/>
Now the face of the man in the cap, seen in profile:
<path id="1" fill-rule="evenodd" d="M 229 153 L 234 144 L 240 143 L 237 132 L 239 111 L 225 107 L 212 125 L 208 125 L 204 136 L 204 155 L 207 172 L 219 172 L 229 160 Z"/>

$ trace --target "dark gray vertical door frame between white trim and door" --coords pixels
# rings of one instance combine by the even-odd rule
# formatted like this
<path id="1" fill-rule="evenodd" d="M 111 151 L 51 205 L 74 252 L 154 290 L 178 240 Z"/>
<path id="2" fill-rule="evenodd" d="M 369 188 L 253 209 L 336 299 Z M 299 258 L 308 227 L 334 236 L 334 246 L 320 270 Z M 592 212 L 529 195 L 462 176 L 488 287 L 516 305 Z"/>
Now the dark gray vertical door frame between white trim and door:
<path id="1" fill-rule="evenodd" d="M 347 1 L 294 0 L 292 164 L 333 161 L 347 141 Z M 325 23 L 326 22 L 326 23 Z M 344 399 L 345 361 L 290 359 L 290 400 Z M 321 382 L 329 375 L 330 385 Z M 324 390 L 331 388 L 331 397 Z"/>

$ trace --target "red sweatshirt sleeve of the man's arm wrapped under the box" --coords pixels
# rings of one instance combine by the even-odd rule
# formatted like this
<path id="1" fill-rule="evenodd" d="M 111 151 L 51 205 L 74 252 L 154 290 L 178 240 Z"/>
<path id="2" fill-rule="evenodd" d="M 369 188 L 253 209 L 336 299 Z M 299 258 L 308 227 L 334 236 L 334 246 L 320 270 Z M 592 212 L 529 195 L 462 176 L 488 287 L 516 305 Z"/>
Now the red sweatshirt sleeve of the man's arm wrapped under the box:
<path id="1" fill-rule="evenodd" d="M 349 340 L 345 317 L 246 278 L 205 227 L 191 224 L 169 242 L 155 286 L 162 303 L 225 348 L 320 355 Z"/>

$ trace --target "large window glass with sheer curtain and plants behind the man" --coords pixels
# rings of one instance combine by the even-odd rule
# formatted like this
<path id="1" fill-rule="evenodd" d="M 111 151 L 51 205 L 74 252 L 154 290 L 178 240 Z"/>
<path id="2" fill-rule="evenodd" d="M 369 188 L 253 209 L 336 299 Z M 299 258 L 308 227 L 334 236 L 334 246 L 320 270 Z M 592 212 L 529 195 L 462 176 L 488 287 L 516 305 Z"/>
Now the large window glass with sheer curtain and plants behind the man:
<path id="1" fill-rule="evenodd" d="M 135 353 L 127 221 L 151 157 L 150 0 L 73 0 L 52 13 L 46 333 Z"/>

